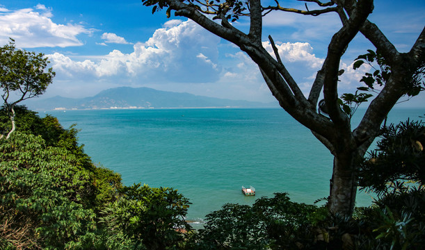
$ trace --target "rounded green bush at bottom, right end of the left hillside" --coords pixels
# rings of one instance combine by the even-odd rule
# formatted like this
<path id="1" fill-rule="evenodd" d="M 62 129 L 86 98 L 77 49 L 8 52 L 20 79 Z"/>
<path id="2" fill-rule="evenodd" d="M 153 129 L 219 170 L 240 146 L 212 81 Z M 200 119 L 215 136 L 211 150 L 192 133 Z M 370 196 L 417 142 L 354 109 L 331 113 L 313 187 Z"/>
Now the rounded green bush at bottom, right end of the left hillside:
<path id="1" fill-rule="evenodd" d="M 172 188 L 134 184 L 104 209 L 102 222 L 110 235 L 131 240 L 135 249 L 175 249 L 191 228 L 184 220 L 189 200 Z"/>

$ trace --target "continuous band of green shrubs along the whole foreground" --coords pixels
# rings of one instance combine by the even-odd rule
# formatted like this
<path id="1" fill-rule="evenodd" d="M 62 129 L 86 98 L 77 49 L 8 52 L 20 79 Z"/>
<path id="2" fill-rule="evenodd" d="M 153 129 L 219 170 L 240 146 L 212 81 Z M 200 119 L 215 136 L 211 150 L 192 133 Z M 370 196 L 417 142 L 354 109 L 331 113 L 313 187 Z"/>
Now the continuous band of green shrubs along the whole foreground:
<path id="1" fill-rule="evenodd" d="M 74 126 L 22 106 L 17 131 L 0 140 L 0 249 L 422 249 L 425 128 L 383 129 L 362 160 L 360 186 L 378 199 L 353 217 L 296 203 L 286 193 L 252 206 L 225 204 L 205 228 L 184 221 L 189 200 L 172 188 L 122 185 L 94 165 Z M 0 110 L 0 130 L 9 131 Z M 324 200 L 326 201 L 326 199 Z"/>

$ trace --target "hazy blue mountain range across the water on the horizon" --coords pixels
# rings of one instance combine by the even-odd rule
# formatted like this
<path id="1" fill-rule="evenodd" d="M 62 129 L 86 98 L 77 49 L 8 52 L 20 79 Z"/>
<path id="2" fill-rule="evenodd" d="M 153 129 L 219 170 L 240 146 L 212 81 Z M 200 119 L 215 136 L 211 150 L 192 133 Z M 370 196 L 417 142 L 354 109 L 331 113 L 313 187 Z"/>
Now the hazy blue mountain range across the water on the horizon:
<path id="1" fill-rule="evenodd" d="M 51 97 L 30 99 L 24 103 L 33 110 L 54 109 L 98 109 L 98 108 L 200 108 L 200 107 L 276 107 L 276 103 L 255 101 L 235 101 L 202 97 L 189 93 L 154 90 L 152 88 L 111 88 L 103 90 L 94 97 L 81 99 Z"/>

